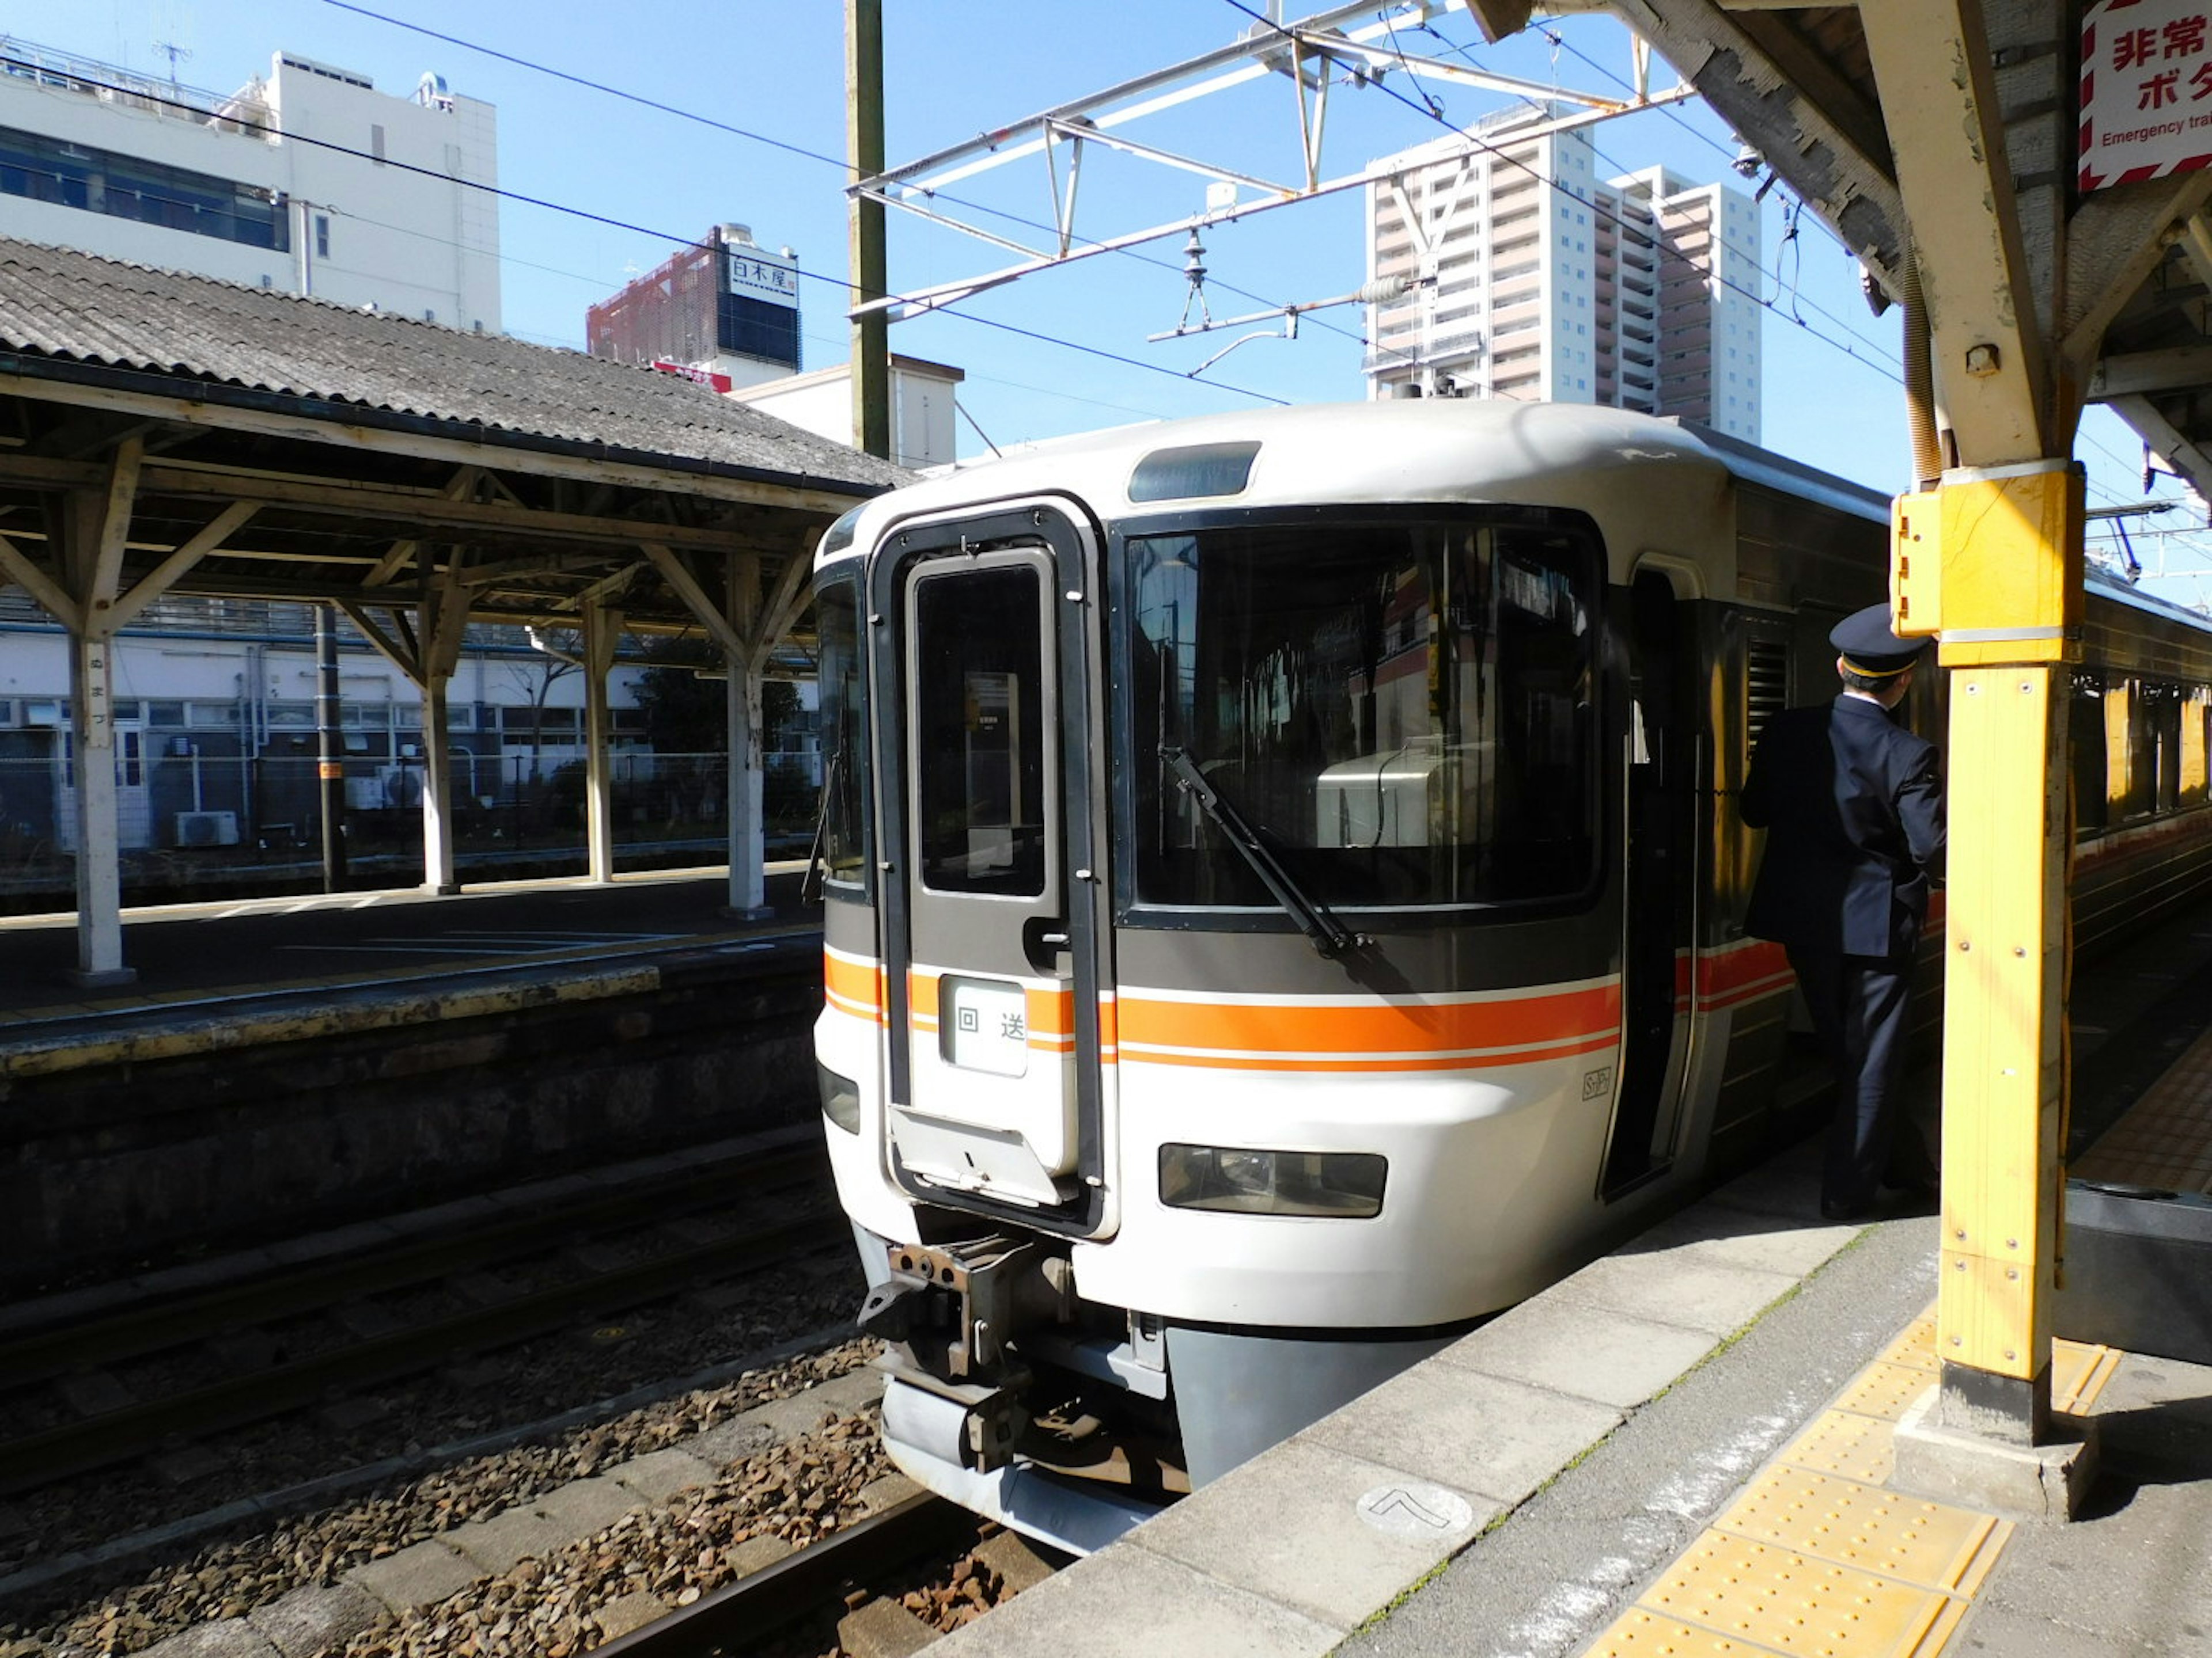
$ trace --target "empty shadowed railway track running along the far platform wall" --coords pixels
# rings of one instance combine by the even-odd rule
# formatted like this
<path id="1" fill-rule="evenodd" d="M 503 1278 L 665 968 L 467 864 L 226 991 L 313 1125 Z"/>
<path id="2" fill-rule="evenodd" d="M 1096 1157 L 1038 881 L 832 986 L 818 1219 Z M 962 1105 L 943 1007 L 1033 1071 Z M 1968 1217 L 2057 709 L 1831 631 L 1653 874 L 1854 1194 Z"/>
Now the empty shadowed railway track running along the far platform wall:
<path id="1" fill-rule="evenodd" d="M 18 1329 L 0 1340 L 0 1413 L 15 1424 L 0 1439 L 0 1494 L 566 1331 L 843 1236 L 818 1136 L 805 1130 L 712 1169 Z M 217 1349 L 241 1357 L 223 1364 Z M 115 1366 L 164 1357 L 181 1386 L 142 1399 L 113 1379 Z"/>

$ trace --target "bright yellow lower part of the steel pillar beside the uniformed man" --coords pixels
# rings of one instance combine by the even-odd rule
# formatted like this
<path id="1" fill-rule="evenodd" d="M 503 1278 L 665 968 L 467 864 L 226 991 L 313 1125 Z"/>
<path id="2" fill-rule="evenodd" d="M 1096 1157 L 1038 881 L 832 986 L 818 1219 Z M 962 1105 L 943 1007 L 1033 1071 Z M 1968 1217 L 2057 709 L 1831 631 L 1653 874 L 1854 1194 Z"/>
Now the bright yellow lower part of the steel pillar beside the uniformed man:
<path id="1" fill-rule="evenodd" d="M 1896 511 L 1898 630 L 1949 670 L 1942 1428 L 2039 1446 L 2066 1121 L 2066 707 L 2081 469 L 1947 471 Z"/>

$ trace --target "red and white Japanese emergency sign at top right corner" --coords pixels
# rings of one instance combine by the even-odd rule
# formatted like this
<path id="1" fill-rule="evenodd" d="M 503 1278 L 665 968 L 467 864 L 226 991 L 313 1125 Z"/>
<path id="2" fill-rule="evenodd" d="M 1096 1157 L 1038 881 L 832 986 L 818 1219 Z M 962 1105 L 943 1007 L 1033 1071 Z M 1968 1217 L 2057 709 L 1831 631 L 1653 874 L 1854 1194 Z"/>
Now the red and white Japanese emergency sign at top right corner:
<path id="1" fill-rule="evenodd" d="M 2212 166 L 2212 0 L 2099 0 L 2081 18 L 2081 190 Z"/>

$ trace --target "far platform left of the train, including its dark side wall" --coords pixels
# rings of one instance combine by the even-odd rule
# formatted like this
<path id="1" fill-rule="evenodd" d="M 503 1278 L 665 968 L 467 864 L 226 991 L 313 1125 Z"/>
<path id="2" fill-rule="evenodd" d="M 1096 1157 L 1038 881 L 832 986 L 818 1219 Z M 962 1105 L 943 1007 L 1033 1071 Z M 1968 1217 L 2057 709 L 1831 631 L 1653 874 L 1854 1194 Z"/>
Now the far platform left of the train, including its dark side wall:
<path id="1" fill-rule="evenodd" d="M 812 1121 L 821 920 L 723 871 L 0 920 L 0 1291 Z"/>

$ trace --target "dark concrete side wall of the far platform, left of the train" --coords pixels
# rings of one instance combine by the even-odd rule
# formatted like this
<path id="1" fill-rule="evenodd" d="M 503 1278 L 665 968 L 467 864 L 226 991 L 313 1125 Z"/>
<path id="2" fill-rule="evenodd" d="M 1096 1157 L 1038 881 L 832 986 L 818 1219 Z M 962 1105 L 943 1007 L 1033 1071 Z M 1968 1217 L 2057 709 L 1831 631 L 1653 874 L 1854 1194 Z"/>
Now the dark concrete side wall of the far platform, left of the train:
<path id="1" fill-rule="evenodd" d="M 807 1121 L 818 1008 L 699 951 L 0 1043 L 0 1293 Z"/>

